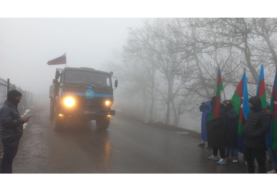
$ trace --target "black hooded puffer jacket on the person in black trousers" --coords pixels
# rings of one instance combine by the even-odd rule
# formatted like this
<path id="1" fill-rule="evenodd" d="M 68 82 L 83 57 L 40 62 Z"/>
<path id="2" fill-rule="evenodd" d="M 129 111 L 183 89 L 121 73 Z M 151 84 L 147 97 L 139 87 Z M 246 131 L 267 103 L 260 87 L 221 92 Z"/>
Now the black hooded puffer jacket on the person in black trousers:
<path id="1" fill-rule="evenodd" d="M 253 107 L 250 108 L 246 123 L 242 128 L 245 136 L 244 145 L 251 149 L 266 150 L 265 134 L 270 130 L 270 116 L 263 110 L 259 97 L 251 97 L 249 102 Z"/>

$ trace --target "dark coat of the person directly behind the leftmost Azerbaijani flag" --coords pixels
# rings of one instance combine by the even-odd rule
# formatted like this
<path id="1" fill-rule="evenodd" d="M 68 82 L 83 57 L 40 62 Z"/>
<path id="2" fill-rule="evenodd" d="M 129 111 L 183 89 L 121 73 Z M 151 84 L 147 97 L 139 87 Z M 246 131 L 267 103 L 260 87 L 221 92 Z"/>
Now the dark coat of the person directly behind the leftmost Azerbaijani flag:
<path id="1" fill-rule="evenodd" d="M 219 118 L 212 121 L 208 121 L 207 131 L 208 131 L 208 146 L 213 148 L 224 149 L 224 117 L 225 110 L 224 105 L 220 104 L 219 107 Z"/>

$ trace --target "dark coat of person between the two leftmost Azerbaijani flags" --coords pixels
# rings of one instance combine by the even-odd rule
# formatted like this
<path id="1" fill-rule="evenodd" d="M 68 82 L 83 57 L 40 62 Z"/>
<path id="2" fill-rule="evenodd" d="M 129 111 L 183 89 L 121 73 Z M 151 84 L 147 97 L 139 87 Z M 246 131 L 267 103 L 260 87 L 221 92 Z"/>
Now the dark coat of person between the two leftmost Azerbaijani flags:
<path id="1" fill-rule="evenodd" d="M 233 108 L 225 114 L 224 143 L 226 147 L 238 149 L 239 115 Z"/>

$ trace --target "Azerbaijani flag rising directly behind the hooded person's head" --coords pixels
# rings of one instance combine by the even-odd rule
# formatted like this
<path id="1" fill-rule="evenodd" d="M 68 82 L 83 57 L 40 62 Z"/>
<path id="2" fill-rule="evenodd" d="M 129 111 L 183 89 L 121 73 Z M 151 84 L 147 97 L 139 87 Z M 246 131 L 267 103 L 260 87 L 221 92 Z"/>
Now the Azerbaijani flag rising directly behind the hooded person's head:
<path id="1" fill-rule="evenodd" d="M 261 99 L 263 109 L 267 110 L 266 89 L 265 89 L 264 74 L 263 74 L 263 64 L 261 65 L 261 69 L 260 69 L 260 75 L 259 75 L 259 80 L 258 80 L 256 96 Z"/>

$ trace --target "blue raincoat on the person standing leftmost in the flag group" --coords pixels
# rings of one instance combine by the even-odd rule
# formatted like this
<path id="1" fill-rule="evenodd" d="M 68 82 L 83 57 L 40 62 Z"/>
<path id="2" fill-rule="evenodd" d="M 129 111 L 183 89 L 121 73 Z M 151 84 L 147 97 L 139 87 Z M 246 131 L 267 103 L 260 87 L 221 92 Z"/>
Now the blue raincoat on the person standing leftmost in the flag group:
<path id="1" fill-rule="evenodd" d="M 208 141 L 208 133 L 206 129 L 206 122 L 208 121 L 209 114 L 212 110 L 211 101 L 204 102 L 207 105 L 207 108 L 203 108 L 202 105 L 200 105 L 199 110 L 202 113 L 202 121 L 201 121 L 201 138 L 202 140 Z"/>

